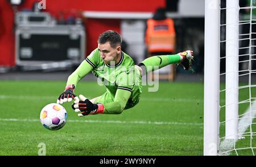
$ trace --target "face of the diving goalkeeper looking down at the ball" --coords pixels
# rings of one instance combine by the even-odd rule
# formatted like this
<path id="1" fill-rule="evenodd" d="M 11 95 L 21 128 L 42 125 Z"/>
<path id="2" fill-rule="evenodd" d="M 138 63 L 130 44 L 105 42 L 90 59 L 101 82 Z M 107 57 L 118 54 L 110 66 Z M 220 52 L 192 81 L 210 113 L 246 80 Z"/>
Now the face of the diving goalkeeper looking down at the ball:
<path id="1" fill-rule="evenodd" d="M 110 64 L 110 62 L 118 63 L 118 55 L 121 53 L 121 46 L 117 45 L 115 48 L 112 48 L 110 43 L 106 42 L 105 44 L 98 44 L 98 51 L 105 64 Z"/>

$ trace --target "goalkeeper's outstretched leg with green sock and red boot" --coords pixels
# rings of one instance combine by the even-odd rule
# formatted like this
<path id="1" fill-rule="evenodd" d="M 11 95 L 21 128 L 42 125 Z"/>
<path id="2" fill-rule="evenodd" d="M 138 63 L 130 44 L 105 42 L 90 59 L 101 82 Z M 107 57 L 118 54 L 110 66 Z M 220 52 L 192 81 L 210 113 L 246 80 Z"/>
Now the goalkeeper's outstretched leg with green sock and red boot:
<path id="1" fill-rule="evenodd" d="M 179 63 L 184 67 L 184 70 L 191 69 L 191 61 L 193 59 L 193 51 L 187 50 L 185 52 L 173 54 L 173 55 L 156 55 L 144 59 L 139 63 L 139 71 L 141 75 L 144 75 L 147 72 L 152 72 L 158 70 L 172 63 Z M 156 69 L 157 68 L 157 69 Z"/>

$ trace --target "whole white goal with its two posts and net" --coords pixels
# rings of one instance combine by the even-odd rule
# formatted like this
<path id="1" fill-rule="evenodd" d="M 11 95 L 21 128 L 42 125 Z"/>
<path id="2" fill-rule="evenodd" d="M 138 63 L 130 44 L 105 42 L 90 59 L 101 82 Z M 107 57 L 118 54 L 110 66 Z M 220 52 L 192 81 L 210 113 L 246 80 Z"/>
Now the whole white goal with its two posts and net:
<path id="1" fill-rule="evenodd" d="M 205 1 L 204 75 L 204 155 L 255 155 L 256 0 Z"/>

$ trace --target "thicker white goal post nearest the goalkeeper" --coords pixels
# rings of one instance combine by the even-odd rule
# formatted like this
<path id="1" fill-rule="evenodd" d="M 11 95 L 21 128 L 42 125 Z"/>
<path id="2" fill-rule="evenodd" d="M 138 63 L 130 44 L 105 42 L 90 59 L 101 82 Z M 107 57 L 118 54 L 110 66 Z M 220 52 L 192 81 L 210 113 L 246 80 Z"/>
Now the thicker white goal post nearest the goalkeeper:
<path id="1" fill-rule="evenodd" d="M 219 112 L 219 0 L 205 0 L 204 155 L 217 155 Z"/>

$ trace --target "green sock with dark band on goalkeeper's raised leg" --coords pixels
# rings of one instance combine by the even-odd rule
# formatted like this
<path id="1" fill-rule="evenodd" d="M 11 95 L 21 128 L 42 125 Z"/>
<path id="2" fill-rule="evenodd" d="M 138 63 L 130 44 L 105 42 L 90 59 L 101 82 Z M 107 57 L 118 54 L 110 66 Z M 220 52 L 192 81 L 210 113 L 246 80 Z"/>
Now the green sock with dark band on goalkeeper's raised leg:
<path id="1" fill-rule="evenodd" d="M 155 67 L 158 69 L 171 65 L 172 63 L 179 63 L 180 62 L 180 55 L 173 54 L 173 55 L 156 55 L 149 58 L 144 59 L 142 63 L 146 66 L 147 72 L 154 71 Z"/>

